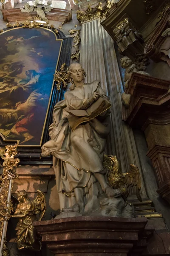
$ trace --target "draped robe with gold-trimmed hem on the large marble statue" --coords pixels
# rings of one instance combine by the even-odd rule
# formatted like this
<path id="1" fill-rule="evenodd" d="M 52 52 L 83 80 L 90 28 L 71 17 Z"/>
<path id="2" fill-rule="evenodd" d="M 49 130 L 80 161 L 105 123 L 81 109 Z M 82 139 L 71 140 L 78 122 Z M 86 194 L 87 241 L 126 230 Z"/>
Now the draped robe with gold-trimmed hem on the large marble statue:
<path id="1" fill-rule="evenodd" d="M 94 93 L 105 95 L 98 81 L 75 87 L 65 93 L 65 99 L 54 107 L 53 123 L 49 128 L 51 140 L 42 146 L 42 156 L 53 155 L 57 191 L 60 209 L 76 204 L 74 189 L 83 189 L 85 212 L 92 212 L 99 207 L 99 195 L 102 189 L 93 173 L 103 171 L 105 137 L 110 127 L 110 111 L 98 117 L 96 128 L 91 122 L 79 125 L 71 130 L 66 108 L 84 109 L 85 101 Z M 105 134 L 105 136 L 103 135 Z"/>

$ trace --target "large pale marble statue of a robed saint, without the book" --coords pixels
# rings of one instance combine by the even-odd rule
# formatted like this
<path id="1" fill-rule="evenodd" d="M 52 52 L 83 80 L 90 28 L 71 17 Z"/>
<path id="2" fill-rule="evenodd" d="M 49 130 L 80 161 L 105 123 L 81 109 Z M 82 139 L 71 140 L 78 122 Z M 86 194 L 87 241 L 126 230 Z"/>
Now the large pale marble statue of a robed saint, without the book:
<path id="1" fill-rule="evenodd" d="M 61 212 L 86 215 L 99 208 L 102 194 L 105 198 L 120 195 L 108 185 L 102 164 L 110 132 L 110 108 L 73 131 L 68 122 L 68 110 L 82 113 L 99 97 L 108 97 L 99 81 L 85 84 L 85 71 L 80 64 L 71 64 L 68 75 L 72 86 L 65 93 L 65 99 L 54 107 L 53 123 L 49 128 L 51 140 L 42 146 L 42 156 L 53 155 Z"/>

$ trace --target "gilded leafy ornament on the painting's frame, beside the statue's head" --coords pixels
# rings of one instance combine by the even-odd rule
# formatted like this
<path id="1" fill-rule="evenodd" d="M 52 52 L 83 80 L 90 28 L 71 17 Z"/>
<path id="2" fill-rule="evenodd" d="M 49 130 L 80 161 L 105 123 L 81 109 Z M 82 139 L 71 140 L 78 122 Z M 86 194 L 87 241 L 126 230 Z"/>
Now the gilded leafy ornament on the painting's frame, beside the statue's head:
<path id="1" fill-rule="evenodd" d="M 61 84 L 63 84 L 63 87 L 67 87 L 68 82 L 68 68 L 65 68 L 65 63 L 63 63 L 60 67 L 60 71 L 56 71 L 54 75 L 54 81 L 56 81 L 57 90 L 61 89 Z"/>

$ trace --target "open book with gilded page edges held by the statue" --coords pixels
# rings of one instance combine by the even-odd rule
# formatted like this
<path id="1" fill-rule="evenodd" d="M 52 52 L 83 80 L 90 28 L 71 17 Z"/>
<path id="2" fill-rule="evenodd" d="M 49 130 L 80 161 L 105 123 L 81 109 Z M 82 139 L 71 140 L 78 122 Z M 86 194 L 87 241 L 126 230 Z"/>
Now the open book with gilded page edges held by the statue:
<path id="1" fill-rule="evenodd" d="M 91 121 L 109 108 L 111 108 L 111 102 L 106 97 L 100 96 L 99 99 L 92 103 L 86 110 L 69 110 L 68 108 L 65 110 L 69 113 L 67 116 L 68 122 L 72 131 L 74 131 L 78 125 L 82 124 L 83 122 Z"/>

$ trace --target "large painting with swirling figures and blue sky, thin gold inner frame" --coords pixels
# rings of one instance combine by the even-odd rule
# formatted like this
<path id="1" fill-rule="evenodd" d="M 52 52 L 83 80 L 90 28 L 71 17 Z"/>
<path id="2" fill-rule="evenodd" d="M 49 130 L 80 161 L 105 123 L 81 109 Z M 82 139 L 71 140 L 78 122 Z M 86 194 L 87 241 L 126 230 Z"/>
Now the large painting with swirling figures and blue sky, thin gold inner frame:
<path id="1" fill-rule="evenodd" d="M 0 34 L 0 136 L 40 146 L 62 39 L 54 31 L 15 27 Z"/>

